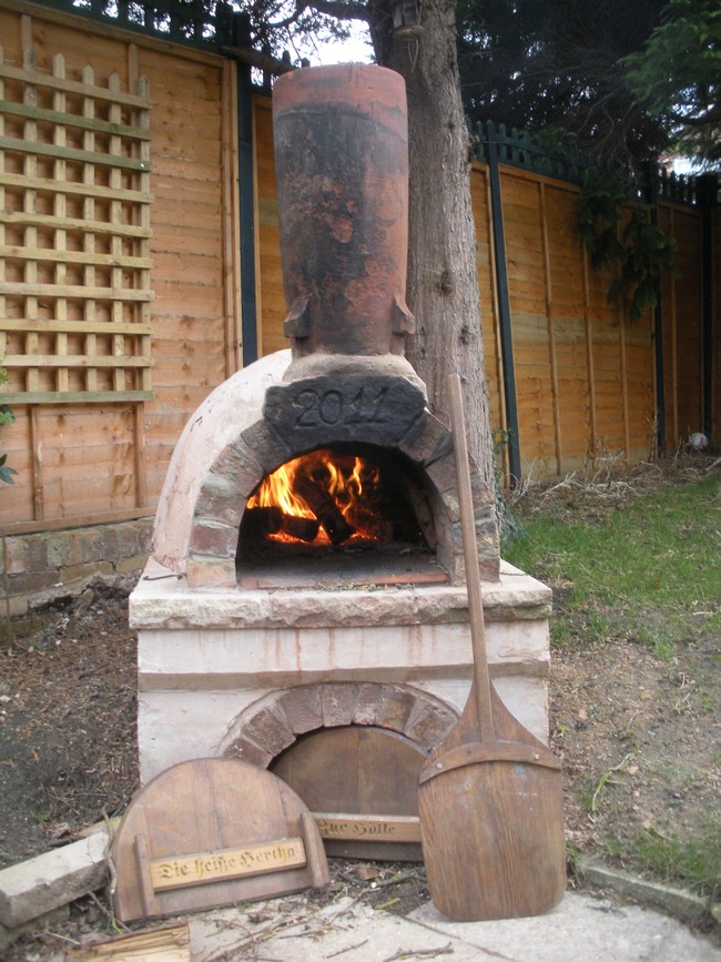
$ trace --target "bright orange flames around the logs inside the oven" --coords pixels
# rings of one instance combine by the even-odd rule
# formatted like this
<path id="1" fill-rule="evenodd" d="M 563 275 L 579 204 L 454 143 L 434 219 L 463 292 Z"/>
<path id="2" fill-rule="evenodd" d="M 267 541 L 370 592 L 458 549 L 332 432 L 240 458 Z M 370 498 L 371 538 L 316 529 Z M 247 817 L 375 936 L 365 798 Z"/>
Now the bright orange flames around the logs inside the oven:
<path id="1" fill-rule="evenodd" d="M 346 540 L 378 540 L 378 536 L 368 529 L 368 526 L 358 527 L 357 517 L 373 516 L 368 496 L 372 497 L 379 482 L 380 472 L 377 465 L 362 457 L 339 455 L 321 448 L 293 458 L 266 475 L 257 490 L 248 498 L 246 507 L 280 508 L 283 515 L 288 517 L 316 519 L 316 512 L 298 488 L 316 490 L 322 493 L 321 497 L 332 498 L 335 508 L 353 527 L 353 534 Z M 267 537 L 282 541 L 298 540 L 285 531 L 268 533 Z M 321 527 L 315 543 L 329 541 L 327 533 Z"/>

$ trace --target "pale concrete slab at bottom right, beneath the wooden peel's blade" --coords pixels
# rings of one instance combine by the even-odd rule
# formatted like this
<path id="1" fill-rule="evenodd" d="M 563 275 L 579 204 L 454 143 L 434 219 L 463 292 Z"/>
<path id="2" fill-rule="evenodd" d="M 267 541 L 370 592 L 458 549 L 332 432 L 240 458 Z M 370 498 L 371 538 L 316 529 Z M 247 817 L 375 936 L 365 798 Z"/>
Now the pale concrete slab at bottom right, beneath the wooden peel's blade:
<path id="1" fill-rule="evenodd" d="M 408 917 L 438 935 L 474 945 L 476 959 L 508 962 L 717 962 L 721 950 L 682 922 L 638 905 L 568 892 L 544 915 L 449 922 L 430 903 Z"/>

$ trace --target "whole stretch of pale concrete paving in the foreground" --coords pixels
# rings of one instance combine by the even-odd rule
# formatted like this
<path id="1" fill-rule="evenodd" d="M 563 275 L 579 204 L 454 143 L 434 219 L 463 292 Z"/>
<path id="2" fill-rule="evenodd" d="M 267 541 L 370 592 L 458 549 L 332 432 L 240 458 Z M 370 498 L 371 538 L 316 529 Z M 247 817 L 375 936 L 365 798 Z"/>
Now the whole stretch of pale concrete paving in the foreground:
<path id="1" fill-rule="evenodd" d="M 303 894 L 189 915 L 193 962 L 721 962 L 721 949 L 653 910 L 569 892 L 552 912 L 449 922 L 430 903 L 407 918 L 349 897 Z"/>

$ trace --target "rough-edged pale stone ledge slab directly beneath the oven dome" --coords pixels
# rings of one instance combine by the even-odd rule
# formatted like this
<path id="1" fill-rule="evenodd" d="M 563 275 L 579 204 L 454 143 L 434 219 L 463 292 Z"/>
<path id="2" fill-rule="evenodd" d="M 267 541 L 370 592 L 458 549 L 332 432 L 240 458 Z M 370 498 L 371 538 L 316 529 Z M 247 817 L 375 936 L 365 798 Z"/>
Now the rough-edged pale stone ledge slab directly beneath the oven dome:
<path id="1" fill-rule="evenodd" d="M 500 580 L 484 584 L 483 589 L 488 622 L 539 620 L 550 615 L 550 588 L 505 563 Z M 130 624 L 136 629 L 334 628 L 467 620 L 465 586 L 190 588 L 184 577 L 153 559 L 130 597 Z"/>

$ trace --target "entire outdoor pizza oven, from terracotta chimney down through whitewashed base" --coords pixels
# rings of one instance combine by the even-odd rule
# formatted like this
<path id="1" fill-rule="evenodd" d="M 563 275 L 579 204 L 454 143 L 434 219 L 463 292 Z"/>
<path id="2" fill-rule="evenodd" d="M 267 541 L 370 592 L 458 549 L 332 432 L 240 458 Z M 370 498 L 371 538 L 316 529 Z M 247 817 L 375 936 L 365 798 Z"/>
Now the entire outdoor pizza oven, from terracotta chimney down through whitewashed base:
<path id="1" fill-rule="evenodd" d="M 291 348 L 213 391 L 173 454 L 130 600 L 143 780 L 203 756 L 275 766 L 331 730 L 390 735 L 413 768 L 470 685 L 451 435 L 404 356 L 403 80 L 285 74 L 274 135 Z M 501 564 L 471 474 L 491 675 L 546 738 L 550 591 Z"/>

